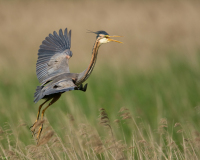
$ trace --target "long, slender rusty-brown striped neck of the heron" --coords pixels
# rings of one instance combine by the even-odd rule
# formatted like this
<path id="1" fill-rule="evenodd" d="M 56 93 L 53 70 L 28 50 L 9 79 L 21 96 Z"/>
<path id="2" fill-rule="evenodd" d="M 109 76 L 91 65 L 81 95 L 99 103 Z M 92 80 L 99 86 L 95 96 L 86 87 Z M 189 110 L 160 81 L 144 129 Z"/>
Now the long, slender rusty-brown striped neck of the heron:
<path id="1" fill-rule="evenodd" d="M 79 73 L 77 81 L 76 81 L 76 85 L 79 85 L 83 83 L 84 81 L 86 81 L 88 77 L 90 76 L 90 74 L 92 73 L 96 60 L 97 60 L 99 47 L 100 47 L 100 42 L 99 42 L 99 38 L 97 38 L 92 50 L 92 58 L 91 58 L 90 64 L 83 72 Z"/>

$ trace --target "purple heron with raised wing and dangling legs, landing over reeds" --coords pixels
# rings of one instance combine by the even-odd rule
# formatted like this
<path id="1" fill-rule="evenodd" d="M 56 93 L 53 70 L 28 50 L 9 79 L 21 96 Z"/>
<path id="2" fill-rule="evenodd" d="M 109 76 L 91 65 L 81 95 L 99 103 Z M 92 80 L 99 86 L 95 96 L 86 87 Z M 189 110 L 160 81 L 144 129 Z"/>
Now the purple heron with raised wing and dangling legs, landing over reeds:
<path id="1" fill-rule="evenodd" d="M 70 73 L 68 61 L 72 57 L 71 48 L 71 30 L 68 32 L 67 28 L 64 30 L 59 30 L 49 34 L 45 40 L 40 45 L 38 50 L 38 60 L 36 63 L 36 74 L 41 86 L 36 88 L 34 94 L 34 102 L 37 103 L 40 99 L 45 99 L 45 101 L 39 106 L 37 119 L 35 123 L 31 126 L 33 134 L 35 134 L 35 124 L 39 120 L 40 110 L 42 106 L 50 101 L 50 103 L 42 110 L 41 120 L 43 120 L 44 113 L 46 109 L 55 103 L 61 96 L 62 93 L 71 90 L 86 91 L 87 84 L 82 85 L 90 74 L 92 73 L 96 60 L 98 49 L 103 43 L 108 42 L 118 42 L 120 41 L 111 39 L 112 37 L 120 36 L 110 36 L 105 31 L 92 32 L 95 33 L 96 40 L 92 50 L 92 58 L 89 66 L 81 73 Z M 39 141 L 42 132 L 43 124 L 40 126 L 37 134 L 37 140 Z"/>

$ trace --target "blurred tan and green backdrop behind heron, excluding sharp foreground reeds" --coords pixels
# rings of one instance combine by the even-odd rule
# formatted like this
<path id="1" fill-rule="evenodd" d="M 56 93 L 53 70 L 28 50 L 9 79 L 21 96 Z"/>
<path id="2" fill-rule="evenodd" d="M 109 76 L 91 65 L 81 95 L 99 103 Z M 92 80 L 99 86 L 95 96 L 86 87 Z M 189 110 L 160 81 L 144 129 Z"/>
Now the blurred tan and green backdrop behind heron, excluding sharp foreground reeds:
<path id="1" fill-rule="evenodd" d="M 121 35 L 117 40 L 123 44 L 102 45 L 87 92 L 67 92 L 47 110 L 59 136 L 68 114 L 95 126 L 100 108 L 114 123 L 121 107 L 153 131 L 162 118 L 172 132 L 177 122 L 200 131 L 200 2 L 195 0 L 1 0 L 2 128 L 9 124 L 25 145 L 34 143 L 28 127 L 18 126 L 31 126 L 42 103 L 33 103 L 37 51 L 49 33 L 66 27 L 72 30 L 71 72 L 83 71 L 90 62 L 96 35 L 87 30 Z M 131 129 L 123 129 L 130 139 Z"/>

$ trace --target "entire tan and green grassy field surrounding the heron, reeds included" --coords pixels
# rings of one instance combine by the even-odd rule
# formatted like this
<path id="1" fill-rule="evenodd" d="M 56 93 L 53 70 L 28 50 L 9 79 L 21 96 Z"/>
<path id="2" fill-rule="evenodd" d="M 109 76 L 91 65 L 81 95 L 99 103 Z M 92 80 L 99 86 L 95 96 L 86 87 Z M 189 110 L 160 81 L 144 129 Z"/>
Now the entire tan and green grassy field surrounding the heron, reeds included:
<path id="1" fill-rule="evenodd" d="M 199 159 L 198 1 L 0 1 L 0 159 Z M 81 28 L 81 27 L 82 28 Z M 72 29 L 70 71 L 89 63 L 95 35 L 109 43 L 86 93 L 66 92 L 29 127 L 38 46 Z M 39 127 L 39 126 L 38 126 Z"/>

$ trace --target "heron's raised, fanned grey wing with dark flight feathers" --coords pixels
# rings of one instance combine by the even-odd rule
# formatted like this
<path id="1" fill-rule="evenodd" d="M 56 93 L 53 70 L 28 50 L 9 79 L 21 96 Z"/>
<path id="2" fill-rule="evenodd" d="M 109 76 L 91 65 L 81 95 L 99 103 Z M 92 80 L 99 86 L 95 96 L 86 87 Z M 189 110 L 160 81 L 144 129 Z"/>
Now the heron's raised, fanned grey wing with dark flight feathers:
<path id="1" fill-rule="evenodd" d="M 40 83 L 51 80 L 62 73 L 69 73 L 68 60 L 72 57 L 71 30 L 67 32 L 59 30 L 59 35 L 54 31 L 40 45 L 36 74 Z"/>

